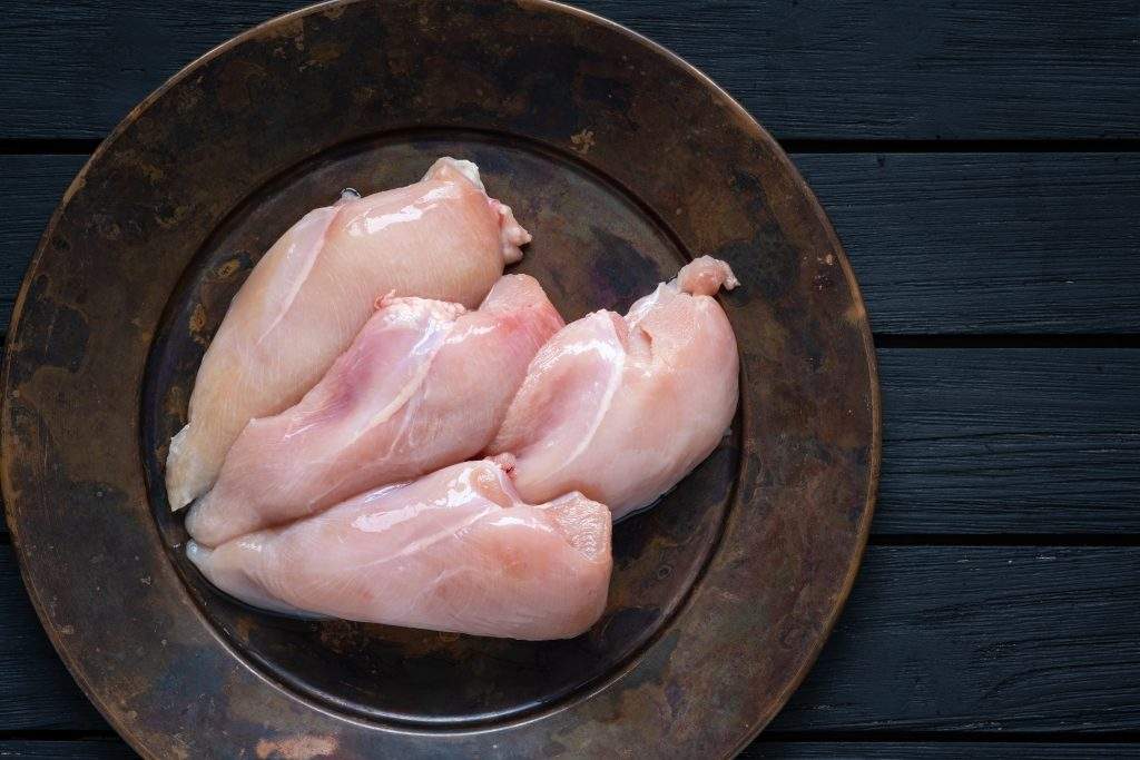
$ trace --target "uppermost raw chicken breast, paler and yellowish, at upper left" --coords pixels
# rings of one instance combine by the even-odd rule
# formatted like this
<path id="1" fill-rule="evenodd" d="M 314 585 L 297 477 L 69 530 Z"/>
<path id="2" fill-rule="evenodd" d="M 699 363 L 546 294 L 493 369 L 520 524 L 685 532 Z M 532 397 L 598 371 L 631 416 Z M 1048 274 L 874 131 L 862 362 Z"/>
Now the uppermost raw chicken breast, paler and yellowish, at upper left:
<path id="1" fill-rule="evenodd" d="M 345 195 L 294 224 L 261 259 L 202 360 L 189 424 L 170 442 L 166 496 L 180 509 L 213 484 L 245 424 L 296 403 L 377 296 L 475 307 L 530 235 L 487 197 L 474 164 L 440 158 L 415 185 Z"/>

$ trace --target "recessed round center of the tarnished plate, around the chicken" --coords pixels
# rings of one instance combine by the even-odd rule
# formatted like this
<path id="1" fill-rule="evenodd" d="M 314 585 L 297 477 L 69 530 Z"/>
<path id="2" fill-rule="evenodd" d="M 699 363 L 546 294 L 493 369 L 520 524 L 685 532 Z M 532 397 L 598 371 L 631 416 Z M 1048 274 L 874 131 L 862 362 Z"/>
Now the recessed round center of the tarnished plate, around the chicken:
<path id="1" fill-rule="evenodd" d="M 344 187 L 363 194 L 418 179 L 441 155 L 474 161 L 488 191 L 535 236 L 511 271 L 535 276 L 567 321 L 624 311 L 689 255 L 652 211 L 576 158 L 506 136 L 410 131 L 325 152 L 260 188 L 214 230 L 168 304 L 144 389 L 152 512 L 172 562 L 217 630 L 263 673 L 337 711 L 384 724 L 487 724 L 542 710 L 612 675 L 660 634 L 719 536 L 738 469 L 733 435 L 653 509 L 614 529 L 602 620 L 563 641 L 301 621 L 217 593 L 184 555 L 182 513 L 162 488 L 170 436 L 205 346 L 261 254 Z M 667 410 L 662 410 L 667 411 Z"/>

